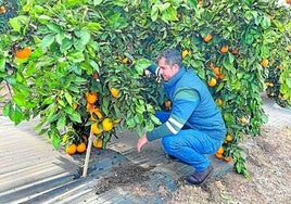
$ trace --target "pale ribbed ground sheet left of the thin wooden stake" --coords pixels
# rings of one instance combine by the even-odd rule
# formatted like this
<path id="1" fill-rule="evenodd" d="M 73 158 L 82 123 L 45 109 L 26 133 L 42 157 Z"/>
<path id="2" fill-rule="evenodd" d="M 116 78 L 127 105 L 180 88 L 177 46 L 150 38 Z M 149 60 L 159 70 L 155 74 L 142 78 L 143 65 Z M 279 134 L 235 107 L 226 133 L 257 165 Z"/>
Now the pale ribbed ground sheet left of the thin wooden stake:
<path id="1" fill-rule="evenodd" d="M 31 199 L 76 182 L 79 166 L 39 138 L 31 123 L 14 126 L 0 117 L 0 203 L 30 203 Z"/>

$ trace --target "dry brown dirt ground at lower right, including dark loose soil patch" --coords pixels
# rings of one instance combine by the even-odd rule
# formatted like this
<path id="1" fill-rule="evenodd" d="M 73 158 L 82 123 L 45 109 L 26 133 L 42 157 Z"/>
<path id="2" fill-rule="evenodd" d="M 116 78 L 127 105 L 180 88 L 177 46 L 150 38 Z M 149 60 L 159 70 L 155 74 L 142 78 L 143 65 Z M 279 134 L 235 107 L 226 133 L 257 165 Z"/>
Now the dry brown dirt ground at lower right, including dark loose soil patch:
<path id="1" fill-rule="evenodd" d="M 1 85 L 3 87 L 3 85 Z M 0 89 L 0 95 L 8 90 Z M 0 109 L 2 103 L 0 103 Z M 212 177 L 201 187 L 188 186 L 178 181 L 178 189 L 169 191 L 159 187 L 155 195 L 169 197 L 168 204 L 175 203 L 291 203 L 291 127 L 276 128 L 263 126 L 261 136 L 245 138 L 246 165 L 250 179 L 227 173 Z M 135 169 L 135 170 L 132 170 Z M 153 192 L 144 184 L 148 171 L 132 164 L 121 164 L 104 176 L 97 194 L 122 187 L 138 196 L 149 196 Z M 116 179 L 116 175 L 118 176 Z"/>

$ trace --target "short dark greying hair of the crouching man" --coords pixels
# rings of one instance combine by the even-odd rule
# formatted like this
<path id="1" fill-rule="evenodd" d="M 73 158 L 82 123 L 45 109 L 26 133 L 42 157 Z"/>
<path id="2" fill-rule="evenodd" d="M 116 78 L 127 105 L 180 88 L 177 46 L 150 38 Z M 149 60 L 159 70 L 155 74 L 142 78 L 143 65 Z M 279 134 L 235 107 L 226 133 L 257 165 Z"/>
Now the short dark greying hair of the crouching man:
<path id="1" fill-rule="evenodd" d="M 165 58 L 165 62 L 168 65 L 177 64 L 179 67 L 182 66 L 181 53 L 176 49 L 167 49 L 163 51 L 156 56 L 156 62 L 159 62 L 162 58 Z"/>

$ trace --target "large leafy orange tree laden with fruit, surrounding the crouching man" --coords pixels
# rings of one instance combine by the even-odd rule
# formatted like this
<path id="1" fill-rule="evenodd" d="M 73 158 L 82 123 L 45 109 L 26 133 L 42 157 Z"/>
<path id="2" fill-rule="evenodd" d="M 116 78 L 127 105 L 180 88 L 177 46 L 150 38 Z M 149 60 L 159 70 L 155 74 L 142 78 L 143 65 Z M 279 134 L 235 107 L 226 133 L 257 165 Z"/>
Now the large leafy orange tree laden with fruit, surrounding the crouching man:
<path id="1" fill-rule="evenodd" d="M 141 136 L 159 124 L 154 112 L 168 109 L 144 69 L 175 47 L 222 110 L 220 157 L 249 177 L 240 142 L 267 119 L 262 61 L 273 65 L 286 52 L 276 44 L 288 41 L 280 39 L 289 15 L 273 0 L 24 0 L 1 35 L 1 79 L 13 88 L 3 113 L 15 124 L 39 116 L 37 128 L 55 148 L 81 143 L 90 128 L 103 148 L 118 128 Z"/>

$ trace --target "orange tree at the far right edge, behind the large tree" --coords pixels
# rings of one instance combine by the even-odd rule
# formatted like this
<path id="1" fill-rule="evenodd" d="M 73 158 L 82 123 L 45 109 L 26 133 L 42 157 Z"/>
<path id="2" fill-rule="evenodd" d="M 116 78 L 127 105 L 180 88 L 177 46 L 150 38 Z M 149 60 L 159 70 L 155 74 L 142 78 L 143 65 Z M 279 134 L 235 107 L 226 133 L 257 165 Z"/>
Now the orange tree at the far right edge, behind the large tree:
<path id="1" fill-rule="evenodd" d="M 273 12 L 271 12 L 273 13 Z M 279 13 L 269 14 L 273 24 L 277 25 L 277 34 L 270 29 L 266 35 L 270 52 L 270 65 L 265 78 L 266 93 L 269 98 L 281 106 L 291 104 L 291 73 L 290 73 L 290 54 L 291 54 L 291 23 L 288 21 L 290 13 L 280 15 Z M 279 50 L 279 52 L 278 52 Z"/>

